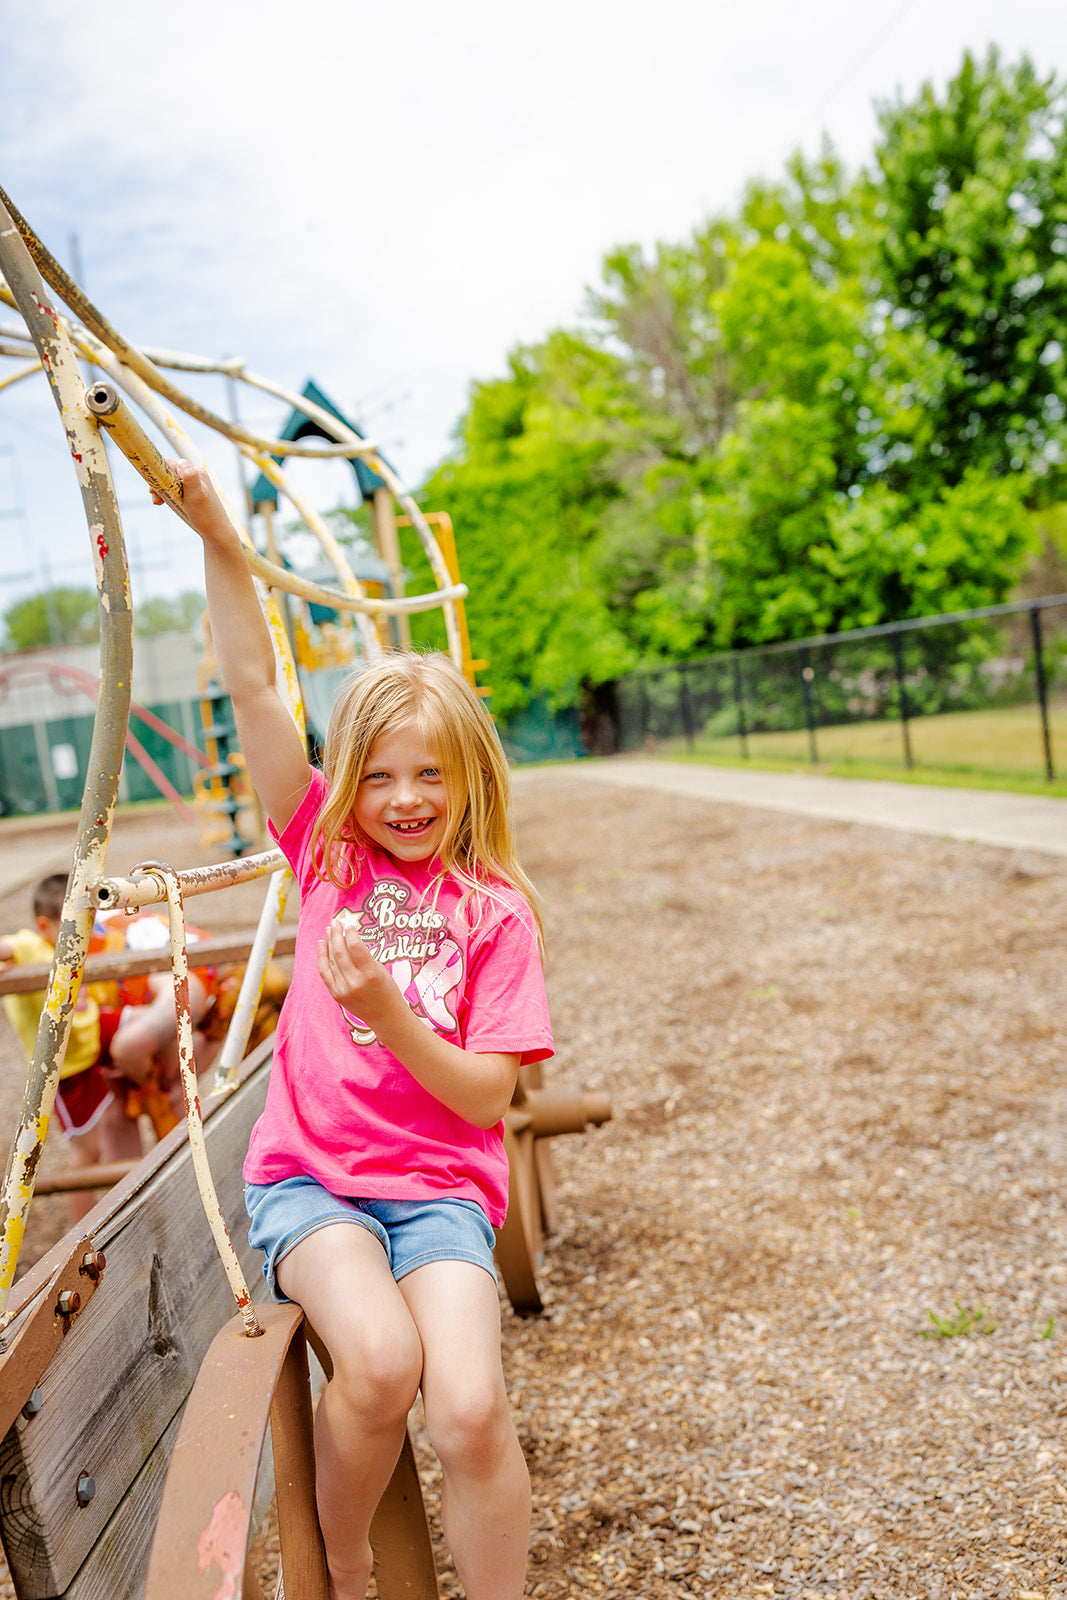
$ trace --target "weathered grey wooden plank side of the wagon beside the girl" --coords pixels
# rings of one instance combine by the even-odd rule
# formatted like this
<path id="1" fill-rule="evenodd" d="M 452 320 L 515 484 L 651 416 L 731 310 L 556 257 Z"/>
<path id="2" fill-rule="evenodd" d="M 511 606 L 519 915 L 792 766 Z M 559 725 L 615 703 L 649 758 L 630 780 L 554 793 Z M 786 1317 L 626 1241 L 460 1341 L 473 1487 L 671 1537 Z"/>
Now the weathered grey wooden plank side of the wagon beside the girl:
<path id="1" fill-rule="evenodd" d="M 262 1282 L 261 1258 L 248 1248 L 240 1170 L 269 1061 L 267 1048 L 206 1123 L 219 1203 L 250 1285 Z M 82 1222 L 107 1256 L 101 1286 L 40 1378 L 40 1411 L 19 1416 L 0 1445 L 0 1534 L 19 1600 L 67 1590 L 146 1464 L 149 1502 L 162 1490 L 165 1462 L 150 1466 L 157 1445 L 234 1314 L 184 1139 L 147 1182 L 134 1173 L 118 1189 L 122 1205 L 102 1203 Z M 85 1507 L 77 1501 L 83 1474 L 96 1483 Z M 154 1522 L 150 1504 L 131 1502 L 107 1536 L 112 1573 L 141 1558 L 133 1546 L 120 1555 L 117 1541 L 136 1546 L 146 1528 L 150 1539 Z"/>

